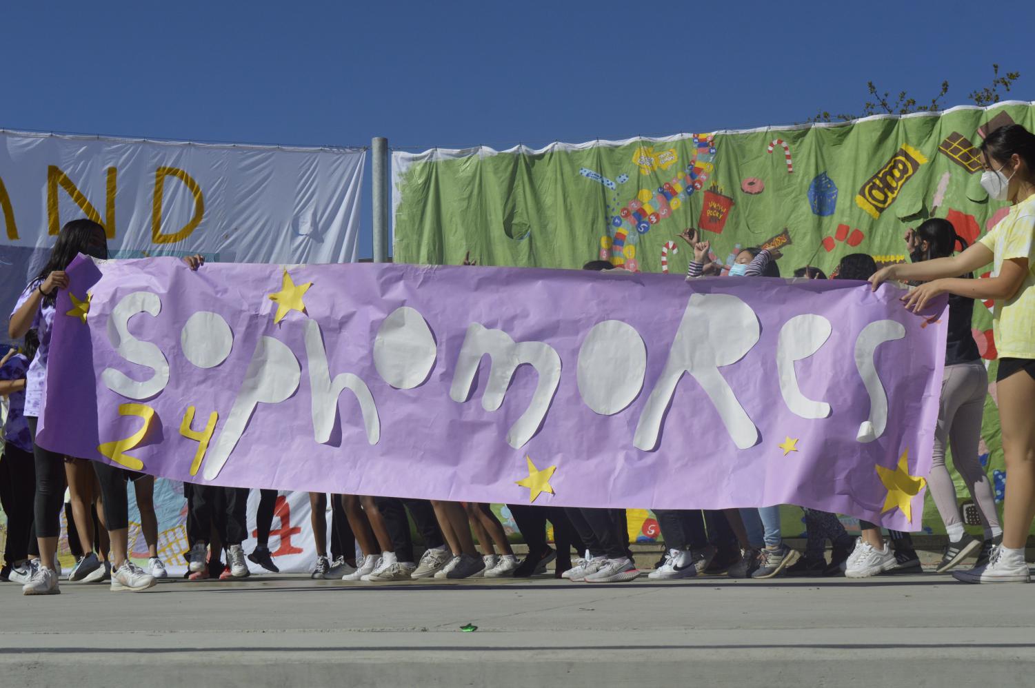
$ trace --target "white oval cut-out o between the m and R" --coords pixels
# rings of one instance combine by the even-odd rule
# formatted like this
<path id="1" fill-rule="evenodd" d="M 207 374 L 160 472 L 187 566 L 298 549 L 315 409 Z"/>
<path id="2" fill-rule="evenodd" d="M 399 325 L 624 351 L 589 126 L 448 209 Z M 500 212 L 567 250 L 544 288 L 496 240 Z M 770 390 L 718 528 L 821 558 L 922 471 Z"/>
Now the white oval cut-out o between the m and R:
<path id="1" fill-rule="evenodd" d="M 579 349 L 579 394 L 593 413 L 613 416 L 640 394 L 647 348 L 637 329 L 620 320 L 597 323 Z"/>

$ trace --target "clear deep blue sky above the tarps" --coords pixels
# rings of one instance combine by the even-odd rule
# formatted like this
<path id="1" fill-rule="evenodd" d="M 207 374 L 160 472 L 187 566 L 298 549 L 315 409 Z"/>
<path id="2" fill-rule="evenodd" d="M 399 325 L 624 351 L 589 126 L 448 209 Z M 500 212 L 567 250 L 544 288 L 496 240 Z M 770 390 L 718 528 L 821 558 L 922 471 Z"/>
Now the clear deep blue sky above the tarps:
<path id="1" fill-rule="evenodd" d="M 1031 3 L 896 4 L 8 2 L 0 127 L 541 145 L 861 112 L 870 80 L 962 104 L 993 62 L 1035 99 Z"/>

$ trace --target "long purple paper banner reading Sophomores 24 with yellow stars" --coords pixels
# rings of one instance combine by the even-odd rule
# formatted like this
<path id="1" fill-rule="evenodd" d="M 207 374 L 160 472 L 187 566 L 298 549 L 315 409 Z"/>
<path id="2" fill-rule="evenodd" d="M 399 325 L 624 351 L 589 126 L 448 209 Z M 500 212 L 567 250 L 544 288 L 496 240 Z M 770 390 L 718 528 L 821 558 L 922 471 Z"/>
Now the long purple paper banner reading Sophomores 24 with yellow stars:
<path id="1" fill-rule="evenodd" d="M 947 318 L 850 281 L 69 268 L 38 442 L 220 485 L 920 524 Z"/>

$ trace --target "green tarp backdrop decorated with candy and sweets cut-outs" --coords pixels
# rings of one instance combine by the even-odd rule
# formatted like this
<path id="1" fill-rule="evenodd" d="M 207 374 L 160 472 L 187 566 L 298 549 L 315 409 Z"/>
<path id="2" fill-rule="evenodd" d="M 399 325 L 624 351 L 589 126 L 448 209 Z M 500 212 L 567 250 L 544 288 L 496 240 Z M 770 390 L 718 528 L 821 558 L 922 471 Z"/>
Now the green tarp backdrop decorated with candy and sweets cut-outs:
<path id="1" fill-rule="evenodd" d="M 905 261 L 906 230 L 928 217 L 947 218 L 973 242 L 1005 214 L 980 185 L 977 147 L 1003 124 L 1035 130 L 1033 104 L 538 150 L 395 152 L 394 260 L 459 264 L 470 251 L 482 265 L 580 268 L 603 259 L 683 273 L 691 251 L 678 235 L 698 228 L 722 263 L 738 246 L 778 247 L 788 277 L 806 265 L 830 274 L 853 252 Z M 980 305 L 974 335 L 994 380 L 992 317 Z M 1001 501 L 994 391 L 981 455 Z M 800 532 L 800 515 L 788 509 L 787 535 Z M 944 532 L 929 499 L 924 531 Z"/>

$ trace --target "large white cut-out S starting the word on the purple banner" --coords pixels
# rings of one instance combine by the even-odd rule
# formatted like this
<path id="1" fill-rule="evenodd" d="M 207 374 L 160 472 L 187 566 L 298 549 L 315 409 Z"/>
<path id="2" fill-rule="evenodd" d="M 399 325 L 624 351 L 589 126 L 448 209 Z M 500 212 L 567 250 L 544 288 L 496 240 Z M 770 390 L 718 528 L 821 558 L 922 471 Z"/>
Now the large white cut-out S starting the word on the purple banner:
<path id="1" fill-rule="evenodd" d="M 108 340 L 115 347 L 119 356 L 130 363 L 151 368 L 153 373 L 142 382 L 115 368 L 105 368 L 100 373 L 100 379 L 108 389 L 130 399 L 150 398 L 169 384 L 169 361 L 166 360 L 166 355 L 156 345 L 141 341 L 129 334 L 129 319 L 141 312 L 152 317 L 161 312 L 161 299 L 157 294 L 134 292 L 123 296 L 108 317 Z"/>

